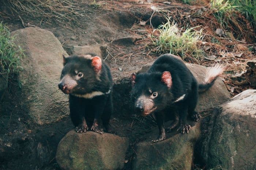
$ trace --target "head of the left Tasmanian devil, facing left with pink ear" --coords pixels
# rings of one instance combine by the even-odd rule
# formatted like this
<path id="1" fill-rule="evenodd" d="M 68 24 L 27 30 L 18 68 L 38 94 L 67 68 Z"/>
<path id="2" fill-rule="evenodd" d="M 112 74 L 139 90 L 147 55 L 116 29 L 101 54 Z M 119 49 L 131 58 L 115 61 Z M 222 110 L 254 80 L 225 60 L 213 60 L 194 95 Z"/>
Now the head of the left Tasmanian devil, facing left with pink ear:
<path id="1" fill-rule="evenodd" d="M 85 94 L 93 90 L 99 81 L 102 62 L 101 58 L 92 55 L 63 55 L 63 70 L 59 88 L 65 94 Z"/>

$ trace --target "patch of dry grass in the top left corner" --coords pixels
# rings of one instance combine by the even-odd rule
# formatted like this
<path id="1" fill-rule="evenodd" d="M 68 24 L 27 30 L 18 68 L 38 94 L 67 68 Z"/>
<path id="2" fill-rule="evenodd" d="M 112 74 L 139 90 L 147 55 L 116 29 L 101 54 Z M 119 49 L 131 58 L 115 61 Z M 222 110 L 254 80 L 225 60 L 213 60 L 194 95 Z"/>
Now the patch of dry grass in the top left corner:
<path id="1" fill-rule="evenodd" d="M 13 15 L 28 15 L 39 23 L 70 25 L 84 16 L 83 9 L 73 0 L 5 0 L 3 4 L 10 7 Z"/>

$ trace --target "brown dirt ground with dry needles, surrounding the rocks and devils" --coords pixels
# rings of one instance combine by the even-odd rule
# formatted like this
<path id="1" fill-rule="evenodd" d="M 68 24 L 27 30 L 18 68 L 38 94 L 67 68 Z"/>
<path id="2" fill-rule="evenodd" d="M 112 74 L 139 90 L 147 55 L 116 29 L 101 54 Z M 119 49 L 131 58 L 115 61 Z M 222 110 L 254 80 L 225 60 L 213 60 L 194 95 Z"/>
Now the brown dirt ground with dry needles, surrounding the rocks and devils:
<path id="1" fill-rule="evenodd" d="M 128 163 L 126 163 L 125 169 L 130 169 L 129 162 L 135 154 L 133 146 L 140 141 L 157 137 L 156 123 L 151 117 L 141 119 L 131 112 L 129 95 L 126 93 L 131 86 L 127 86 L 128 79 L 125 77 L 159 56 L 152 47 L 149 35 L 153 31 L 152 26 L 157 28 L 165 21 L 163 13 L 173 16 L 180 28 L 197 25 L 205 27 L 207 35 L 204 41 L 210 43 L 211 48 L 207 54 L 216 54 L 218 59 L 228 65 L 227 72 L 223 77 L 231 94 L 234 95 L 250 88 L 249 85 L 234 85 L 230 82 L 230 77 L 231 74 L 234 75 L 244 70 L 247 61 L 256 58 L 255 31 L 243 32 L 238 41 L 219 37 L 215 34 L 215 30 L 220 27 L 219 24 L 216 24 L 215 20 L 208 16 L 207 11 L 204 11 L 204 7 L 201 5 L 185 5 L 178 1 L 170 1 L 168 4 L 163 3 L 165 2 L 163 0 L 154 1 L 154 3 L 147 0 L 97 1 L 99 5 L 89 5 L 91 2 L 90 0 L 82 2 L 77 0 L 76 3 L 83 9 L 84 16 L 79 17 L 75 22 L 68 21 L 68 24 L 54 22 L 51 19 L 33 18 L 25 12 L 20 12 L 17 15 L 10 10 L 11 8 L 8 8 L 8 3 L 5 3 L 7 6 L 0 7 L 0 20 L 3 20 L 11 31 L 22 29 L 24 26 L 49 30 L 60 40 L 68 54 L 72 54 L 74 45 L 108 45 L 104 59 L 109 64 L 116 82 L 113 91 L 115 111 L 110 121 L 110 131 L 130 139 L 130 147 L 126 156 Z M 154 12 L 152 6 L 164 9 L 164 12 Z M 197 14 L 199 10 L 202 11 L 201 15 Z M 145 25 L 140 25 L 140 21 L 147 22 Z M 234 36 L 238 37 L 239 31 L 231 31 L 234 31 Z M 140 36 L 141 38 L 134 43 L 113 42 L 113 40 L 128 36 Z M 218 39 L 221 44 L 211 43 L 213 38 Z M 244 39 L 245 41 L 242 41 Z M 252 46 L 253 50 L 242 51 L 241 57 L 231 56 L 231 53 L 241 52 L 237 48 L 238 44 Z M 223 51 L 230 55 L 221 57 Z M 205 58 L 200 60 L 184 58 L 184 60 L 205 66 L 215 62 Z M 69 117 L 43 127 L 34 124 L 29 117 L 22 114 L 22 109 L 16 109 L 16 100 L 20 99 L 16 98 L 15 88 L 18 87 L 12 87 L 9 95 L 6 95 L 6 99 L 1 103 L 0 169 L 59 169 L 54 156 L 60 139 L 73 128 Z M 35 155 L 38 151 L 41 151 L 42 154 Z M 49 153 L 50 157 L 44 154 L 45 152 Z M 38 166 L 38 162 L 41 166 Z"/>

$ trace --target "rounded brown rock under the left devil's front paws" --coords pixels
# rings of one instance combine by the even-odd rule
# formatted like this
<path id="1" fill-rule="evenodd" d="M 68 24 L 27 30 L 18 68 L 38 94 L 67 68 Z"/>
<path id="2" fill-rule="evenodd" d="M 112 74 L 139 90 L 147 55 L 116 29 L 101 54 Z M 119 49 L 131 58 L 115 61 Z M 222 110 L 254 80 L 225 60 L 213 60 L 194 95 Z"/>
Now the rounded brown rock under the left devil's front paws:
<path id="1" fill-rule="evenodd" d="M 69 131 L 61 139 L 56 161 L 63 170 L 123 169 L 129 142 L 113 134 Z"/>

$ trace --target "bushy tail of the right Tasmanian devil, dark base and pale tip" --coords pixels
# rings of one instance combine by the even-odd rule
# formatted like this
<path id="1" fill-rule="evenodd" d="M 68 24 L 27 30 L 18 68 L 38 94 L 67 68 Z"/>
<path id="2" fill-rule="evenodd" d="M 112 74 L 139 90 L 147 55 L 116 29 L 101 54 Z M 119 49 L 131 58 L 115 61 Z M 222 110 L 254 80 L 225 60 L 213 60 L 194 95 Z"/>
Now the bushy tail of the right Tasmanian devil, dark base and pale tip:
<path id="1" fill-rule="evenodd" d="M 220 64 L 216 64 L 213 67 L 208 67 L 203 83 L 199 84 L 199 92 L 204 92 L 208 90 L 214 84 L 214 81 L 218 78 L 218 76 L 223 73 L 224 70 L 225 67 Z"/>

